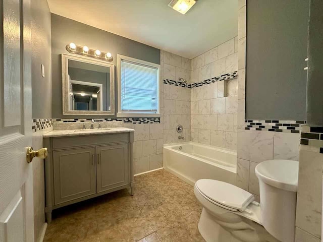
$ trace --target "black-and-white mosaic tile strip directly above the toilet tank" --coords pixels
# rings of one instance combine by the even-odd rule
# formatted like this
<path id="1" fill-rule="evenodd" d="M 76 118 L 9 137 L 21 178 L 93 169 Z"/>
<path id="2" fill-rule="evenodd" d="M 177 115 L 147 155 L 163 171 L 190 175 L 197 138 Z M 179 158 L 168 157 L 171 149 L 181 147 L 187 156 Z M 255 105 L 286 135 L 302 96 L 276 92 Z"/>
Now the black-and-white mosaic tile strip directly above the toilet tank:
<path id="1" fill-rule="evenodd" d="M 304 120 L 245 120 L 245 130 L 300 133 Z"/>

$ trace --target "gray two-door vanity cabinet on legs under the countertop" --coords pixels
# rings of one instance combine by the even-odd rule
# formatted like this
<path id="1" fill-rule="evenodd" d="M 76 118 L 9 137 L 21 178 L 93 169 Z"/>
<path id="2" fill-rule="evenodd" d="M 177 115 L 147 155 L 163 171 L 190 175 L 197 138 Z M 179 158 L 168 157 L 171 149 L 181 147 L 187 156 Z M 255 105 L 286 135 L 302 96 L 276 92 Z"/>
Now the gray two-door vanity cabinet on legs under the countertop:
<path id="1" fill-rule="evenodd" d="M 64 136 L 62 131 L 61 137 L 52 131 L 56 136 L 44 136 L 48 223 L 53 209 L 125 188 L 133 194 L 134 133 L 116 129 L 118 133 L 112 134 Z"/>

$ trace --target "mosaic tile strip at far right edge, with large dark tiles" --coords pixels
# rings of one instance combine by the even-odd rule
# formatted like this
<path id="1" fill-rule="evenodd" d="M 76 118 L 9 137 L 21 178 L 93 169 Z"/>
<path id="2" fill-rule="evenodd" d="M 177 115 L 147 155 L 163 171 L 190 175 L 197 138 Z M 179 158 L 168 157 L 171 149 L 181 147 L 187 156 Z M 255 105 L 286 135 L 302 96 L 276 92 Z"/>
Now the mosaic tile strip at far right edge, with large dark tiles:
<path id="1" fill-rule="evenodd" d="M 309 132 L 301 132 L 300 144 L 315 147 L 323 154 L 323 127 L 309 127 Z"/>

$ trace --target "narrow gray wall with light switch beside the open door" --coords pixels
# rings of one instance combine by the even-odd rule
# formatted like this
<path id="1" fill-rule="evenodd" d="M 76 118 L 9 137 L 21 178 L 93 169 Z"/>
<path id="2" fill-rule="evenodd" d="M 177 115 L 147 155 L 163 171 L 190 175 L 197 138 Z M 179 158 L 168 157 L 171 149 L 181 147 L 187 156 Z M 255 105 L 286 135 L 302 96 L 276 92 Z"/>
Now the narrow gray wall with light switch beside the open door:
<path id="1" fill-rule="evenodd" d="M 32 117 L 51 118 L 51 36 L 47 1 L 32 0 Z M 45 77 L 41 76 L 41 64 Z"/>

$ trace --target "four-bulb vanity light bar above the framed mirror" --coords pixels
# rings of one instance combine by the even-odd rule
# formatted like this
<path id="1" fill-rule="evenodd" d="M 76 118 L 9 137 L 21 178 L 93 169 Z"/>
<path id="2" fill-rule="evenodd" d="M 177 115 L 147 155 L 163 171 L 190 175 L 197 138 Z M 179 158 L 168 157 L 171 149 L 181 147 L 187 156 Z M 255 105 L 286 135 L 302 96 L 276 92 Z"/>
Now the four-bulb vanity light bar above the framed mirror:
<path id="1" fill-rule="evenodd" d="M 80 54 L 84 56 L 90 56 L 96 59 L 101 59 L 102 61 L 112 62 L 113 56 L 110 52 L 101 52 L 98 49 L 90 49 L 86 45 L 80 46 L 74 43 L 69 43 L 66 45 L 66 50 L 73 54 Z"/>

